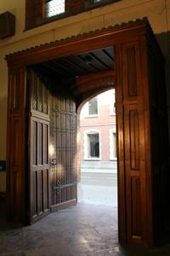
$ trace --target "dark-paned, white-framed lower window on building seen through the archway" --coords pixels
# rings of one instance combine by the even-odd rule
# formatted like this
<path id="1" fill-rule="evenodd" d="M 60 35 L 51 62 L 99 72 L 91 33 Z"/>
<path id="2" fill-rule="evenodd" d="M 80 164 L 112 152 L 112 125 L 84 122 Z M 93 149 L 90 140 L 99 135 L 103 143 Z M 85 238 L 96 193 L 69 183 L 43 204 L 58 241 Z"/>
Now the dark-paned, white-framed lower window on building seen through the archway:
<path id="1" fill-rule="evenodd" d="M 88 158 L 99 158 L 99 133 L 88 134 Z"/>

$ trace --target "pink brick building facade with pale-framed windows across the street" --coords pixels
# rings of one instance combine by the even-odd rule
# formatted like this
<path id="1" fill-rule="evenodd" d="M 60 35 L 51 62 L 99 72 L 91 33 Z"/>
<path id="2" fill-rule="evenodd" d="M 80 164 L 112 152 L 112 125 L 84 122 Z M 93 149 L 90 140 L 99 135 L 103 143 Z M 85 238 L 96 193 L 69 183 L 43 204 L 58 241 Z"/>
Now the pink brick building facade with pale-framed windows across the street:
<path id="1" fill-rule="evenodd" d="M 82 172 L 116 172 L 115 90 L 95 96 L 80 114 Z"/>

